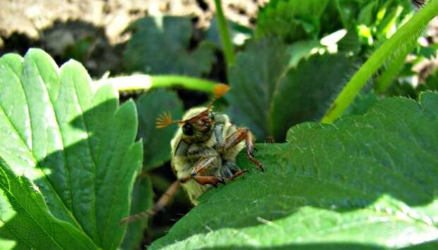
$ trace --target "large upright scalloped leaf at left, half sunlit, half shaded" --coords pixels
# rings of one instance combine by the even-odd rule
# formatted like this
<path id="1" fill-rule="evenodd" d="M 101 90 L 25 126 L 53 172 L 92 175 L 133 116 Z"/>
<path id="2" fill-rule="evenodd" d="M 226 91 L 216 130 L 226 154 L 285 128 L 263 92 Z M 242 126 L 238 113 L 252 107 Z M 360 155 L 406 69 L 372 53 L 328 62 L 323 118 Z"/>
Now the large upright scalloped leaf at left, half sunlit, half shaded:
<path id="1" fill-rule="evenodd" d="M 113 87 L 95 90 L 91 83 L 80 63 L 69 61 L 59 69 L 39 49 L 31 49 L 24 59 L 1 57 L 0 156 L 10 167 L 2 166 L 4 171 L 35 182 L 54 218 L 76 227 L 96 246 L 116 249 L 125 230 L 119 221 L 129 213 L 126 204 L 143 149 L 134 142 L 134 102 L 119 106 Z M 13 203 L 11 196 L 2 197 Z M 0 209 L 11 213 L 9 206 L 1 204 Z M 2 231 L 14 235 L 13 223 L 26 220 L 27 214 L 17 210 L 14 219 L 3 222 Z M 49 235 L 54 234 L 50 226 L 40 225 Z M 6 238 L 17 244 L 42 242 L 26 232 L 28 240 Z"/>

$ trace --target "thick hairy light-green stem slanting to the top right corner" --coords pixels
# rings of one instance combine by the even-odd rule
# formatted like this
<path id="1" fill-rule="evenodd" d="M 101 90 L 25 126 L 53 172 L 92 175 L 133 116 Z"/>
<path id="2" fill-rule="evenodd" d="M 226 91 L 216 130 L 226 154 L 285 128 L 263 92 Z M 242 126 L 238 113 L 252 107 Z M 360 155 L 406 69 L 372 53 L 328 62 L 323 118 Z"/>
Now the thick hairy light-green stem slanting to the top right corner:
<path id="1" fill-rule="evenodd" d="M 391 56 L 406 57 L 410 52 L 410 45 L 406 43 L 415 42 L 421 35 L 421 30 L 438 14 L 438 0 L 430 0 L 413 18 L 403 25 L 396 34 L 374 51 L 371 57 L 362 67 L 357 70 L 350 82 L 342 89 L 336 100 L 331 104 L 321 123 L 332 123 L 345 111 L 355 96 L 367 81 Z M 397 55 L 401 54 L 401 55 Z"/>

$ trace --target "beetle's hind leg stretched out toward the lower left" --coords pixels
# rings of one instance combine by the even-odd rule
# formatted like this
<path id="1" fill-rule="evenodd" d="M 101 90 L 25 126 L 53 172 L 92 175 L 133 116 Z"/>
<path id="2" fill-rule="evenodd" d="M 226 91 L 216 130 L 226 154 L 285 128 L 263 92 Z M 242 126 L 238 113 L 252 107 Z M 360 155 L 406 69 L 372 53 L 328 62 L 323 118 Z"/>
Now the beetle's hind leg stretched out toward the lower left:
<path id="1" fill-rule="evenodd" d="M 130 215 L 129 217 L 123 218 L 120 221 L 120 224 L 124 225 L 126 223 L 131 223 L 133 221 L 141 220 L 143 218 L 155 215 L 155 213 L 158 213 L 158 211 L 161 211 L 165 206 L 167 206 L 167 204 L 169 204 L 169 201 L 172 199 L 174 194 L 177 193 L 179 187 L 181 187 L 181 182 L 179 182 L 179 180 L 174 181 L 172 183 L 172 185 L 170 185 L 170 187 L 167 188 L 166 192 L 164 194 L 162 194 L 160 199 L 158 199 L 158 201 L 155 203 L 153 208 L 150 208 L 147 211 L 143 211 L 141 213 L 137 213 L 134 215 Z"/>

